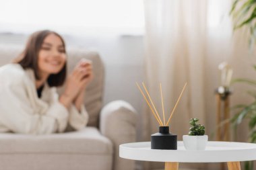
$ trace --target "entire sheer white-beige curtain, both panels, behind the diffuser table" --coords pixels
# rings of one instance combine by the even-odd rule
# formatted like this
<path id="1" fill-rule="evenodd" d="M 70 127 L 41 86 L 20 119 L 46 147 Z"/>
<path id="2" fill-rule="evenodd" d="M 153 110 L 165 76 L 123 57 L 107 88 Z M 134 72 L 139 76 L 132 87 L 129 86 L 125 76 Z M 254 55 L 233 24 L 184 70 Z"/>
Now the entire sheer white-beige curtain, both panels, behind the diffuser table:
<path id="1" fill-rule="evenodd" d="M 174 107 L 185 82 L 187 89 L 170 122 L 170 131 L 189 132 L 189 119 L 199 118 L 210 135 L 215 128 L 216 101 L 214 90 L 219 84 L 218 65 L 226 61 L 238 70 L 239 54 L 245 54 L 245 40 L 232 38 L 228 15 L 231 0 L 145 0 L 146 17 L 146 85 L 162 111 L 159 83 L 162 83 L 166 115 Z M 234 42 L 245 42 L 243 46 Z M 235 73 L 236 75 L 236 73 Z M 158 131 L 158 123 L 150 110 L 145 117 L 144 135 Z M 215 140 L 210 135 L 210 140 Z M 162 166 L 162 165 L 160 165 Z M 183 166 L 183 165 L 181 165 Z M 186 165 L 184 165 L 186 167 Z M 189 164 L 197 169 L 216 169 L 212 165 Z M 218 166 L 218 165 L 214 165 Z M 155 163 L 150 169 L 159 168 Z M 218 169 L 218 167 L 217 167 Z"/>

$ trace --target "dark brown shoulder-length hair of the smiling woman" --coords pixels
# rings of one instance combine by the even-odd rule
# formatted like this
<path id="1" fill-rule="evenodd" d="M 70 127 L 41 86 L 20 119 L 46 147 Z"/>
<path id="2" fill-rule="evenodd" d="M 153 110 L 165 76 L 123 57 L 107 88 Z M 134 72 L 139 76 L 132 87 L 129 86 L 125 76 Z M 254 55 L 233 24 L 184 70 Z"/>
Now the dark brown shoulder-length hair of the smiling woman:
<path id="1" fill-rule="evenodd" d="M 32 69 L 34 71 L 36 80 L 40 79 L 40 75 L 38 73 L 38 54 L 40 49 L 42 48 L 42 43 L 44 42 L 44 38 L 46 38 L 46 36 L 48 36 L 49 34 L 55 34 L 56 36 L 61 38 L 61 42 L 63 43 L 63 47 L 64 47 L 64 52 L 66 53 L 65 42 L 59 34 L 50 30 L 42 30 L 42 31 L 34 32 L 30 36 L 26 44 L 26 48 L 24 49 L 22 54 L 18 58 L 16 58 L 16 61 L 15 61 L 18 64 L 20 64 L 23 67 L 23 69 Z M 67 74 L 67 61 L 65 62 L 63 69 L 61 69 L 59 73 L 51 74 L 48 77 L 47 83 L 49 84 L 50 87 L 61 86 L 65 81 L 66 74 Z"/>

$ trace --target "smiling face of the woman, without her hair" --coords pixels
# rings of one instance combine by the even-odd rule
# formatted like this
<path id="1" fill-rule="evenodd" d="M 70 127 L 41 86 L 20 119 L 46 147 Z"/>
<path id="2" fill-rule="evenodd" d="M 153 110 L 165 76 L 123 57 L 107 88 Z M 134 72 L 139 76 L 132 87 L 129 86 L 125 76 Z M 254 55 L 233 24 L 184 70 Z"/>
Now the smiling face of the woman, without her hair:
<path id="1" fill-rule="evenodd" d="M 59 36 L 49 34 L 44 38 L 38 54 L 39 74 L 51 75 L 61 71 L 66 62 L 65 48 Z"/>

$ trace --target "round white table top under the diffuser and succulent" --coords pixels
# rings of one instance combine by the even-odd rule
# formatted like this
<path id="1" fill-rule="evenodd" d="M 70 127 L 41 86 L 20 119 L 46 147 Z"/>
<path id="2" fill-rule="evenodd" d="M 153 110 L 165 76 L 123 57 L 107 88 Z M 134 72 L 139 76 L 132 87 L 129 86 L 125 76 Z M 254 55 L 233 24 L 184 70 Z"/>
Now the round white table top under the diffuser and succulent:
<path id="1" fill-rule="evenodd" d="M 208 141 L 203 151 L 187 151 L 183 141 L 177 150 L 151 149 L 150 142 L 121 144 L 119 156 L 138 161 L 216 163 L 256 160 L 256 144 L 245 142 Z"/>

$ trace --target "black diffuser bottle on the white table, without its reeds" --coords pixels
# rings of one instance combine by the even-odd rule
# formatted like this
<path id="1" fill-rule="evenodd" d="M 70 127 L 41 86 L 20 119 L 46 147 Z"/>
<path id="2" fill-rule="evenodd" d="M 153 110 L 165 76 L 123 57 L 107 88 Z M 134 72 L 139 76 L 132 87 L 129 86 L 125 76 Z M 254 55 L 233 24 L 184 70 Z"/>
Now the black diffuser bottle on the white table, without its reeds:
<path id="1" fill-rule="evenodd" d="M 177 150 L 177 134 L 171 134 L 169 126 L 159 126 L 159 132 L 151 135 L 151 148 Z"/>

